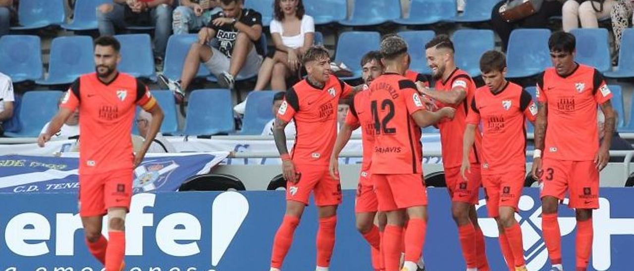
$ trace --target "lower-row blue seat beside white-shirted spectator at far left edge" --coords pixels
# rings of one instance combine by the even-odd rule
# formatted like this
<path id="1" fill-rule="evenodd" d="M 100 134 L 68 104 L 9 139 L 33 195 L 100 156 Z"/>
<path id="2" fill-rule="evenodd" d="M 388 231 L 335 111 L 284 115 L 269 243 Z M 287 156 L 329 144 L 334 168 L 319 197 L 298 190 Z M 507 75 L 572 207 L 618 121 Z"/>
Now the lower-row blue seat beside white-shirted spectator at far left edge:
<path id="1" fill-rule="evenodd" d="M 20 130 L 5 132 L 8 137 L 37 137 L 42 127 L 57 113 L 57 102 L 61 91 L 27 91 L 22 96 L 20 111 Z"/>

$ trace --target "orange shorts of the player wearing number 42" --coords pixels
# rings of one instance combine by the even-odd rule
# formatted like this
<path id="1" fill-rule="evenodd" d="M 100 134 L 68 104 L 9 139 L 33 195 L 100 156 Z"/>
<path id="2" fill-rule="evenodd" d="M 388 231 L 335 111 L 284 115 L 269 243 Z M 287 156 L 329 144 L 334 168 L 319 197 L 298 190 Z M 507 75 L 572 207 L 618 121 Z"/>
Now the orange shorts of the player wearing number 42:
<path id="1" fill-rule="evenodd" d="M 420 173 L 372 174 L 377 191 L 378 211 L 427 206 L 427 187 Z"/>

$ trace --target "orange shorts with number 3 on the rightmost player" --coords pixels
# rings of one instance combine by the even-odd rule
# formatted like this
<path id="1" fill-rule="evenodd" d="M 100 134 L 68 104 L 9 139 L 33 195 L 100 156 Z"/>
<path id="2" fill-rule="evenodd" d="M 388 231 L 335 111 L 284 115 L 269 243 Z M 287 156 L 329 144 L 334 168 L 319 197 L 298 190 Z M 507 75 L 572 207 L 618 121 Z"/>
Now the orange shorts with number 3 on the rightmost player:
<path id="1" fill-rule="evenodd" d="M 570 197 L 569 208 L 598 208 L 598 170 L 594 161 L 565 161 L 544 158 L 541 163 L 541 198 Z"/>

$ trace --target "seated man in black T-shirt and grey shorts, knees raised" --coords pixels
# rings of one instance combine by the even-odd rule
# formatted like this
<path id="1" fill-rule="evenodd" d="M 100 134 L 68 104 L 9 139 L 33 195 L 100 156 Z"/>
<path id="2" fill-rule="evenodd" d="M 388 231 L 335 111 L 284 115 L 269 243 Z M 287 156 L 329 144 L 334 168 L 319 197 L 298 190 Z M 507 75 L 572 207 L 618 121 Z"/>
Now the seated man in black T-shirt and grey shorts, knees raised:
<path id="1" fill-rule="evenodd" d="M 243 0 L 219 1 L 223 11 L 212 16 L 209 25 L 198 32 L 198 42 L 191 44 L 181 79 L 173 81 L 159 75 L 160 81 L 179 101 L 198 73 L 200 63 L 214 73 L 218 84 L 226 89 L 233 89 L 236 75 L 255 74 L 262 64 L 262 15 L 243 8 Z"/>

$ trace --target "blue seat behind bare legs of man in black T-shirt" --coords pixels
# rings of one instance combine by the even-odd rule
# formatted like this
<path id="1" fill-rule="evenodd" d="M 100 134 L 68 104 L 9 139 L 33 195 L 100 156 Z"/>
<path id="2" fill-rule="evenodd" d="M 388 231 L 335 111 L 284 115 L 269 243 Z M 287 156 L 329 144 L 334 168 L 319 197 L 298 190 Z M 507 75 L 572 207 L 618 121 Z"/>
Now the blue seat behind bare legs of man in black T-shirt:
<path id="1" fill-rule="evenodd" d="M 167 40 L 167 49 L 165 49 L 165 62 L 163 65 L 163 74 L 172 80 L 181 78 L 183 63 L 190 46 L 194 42 L 198 42 L 197 34 L 171 35 Z M 205 77 L 209 74 L 207 68 L 200 64 L 196 77 Z"/>

